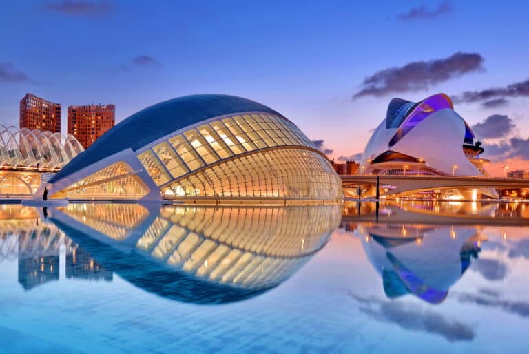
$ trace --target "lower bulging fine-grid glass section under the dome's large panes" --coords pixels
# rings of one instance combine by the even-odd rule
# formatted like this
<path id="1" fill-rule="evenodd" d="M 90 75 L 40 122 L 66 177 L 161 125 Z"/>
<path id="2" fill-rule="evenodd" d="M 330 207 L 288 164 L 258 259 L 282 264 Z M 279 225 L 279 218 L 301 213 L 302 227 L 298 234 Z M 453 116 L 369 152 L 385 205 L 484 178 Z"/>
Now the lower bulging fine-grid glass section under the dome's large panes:
<path id="1" fill-rule="evenodd" d="M 320 154 L 281 148 L 248 154 L 198 171 L 161 189 L 164 198 L 338 199 L 339 177 Z"/>

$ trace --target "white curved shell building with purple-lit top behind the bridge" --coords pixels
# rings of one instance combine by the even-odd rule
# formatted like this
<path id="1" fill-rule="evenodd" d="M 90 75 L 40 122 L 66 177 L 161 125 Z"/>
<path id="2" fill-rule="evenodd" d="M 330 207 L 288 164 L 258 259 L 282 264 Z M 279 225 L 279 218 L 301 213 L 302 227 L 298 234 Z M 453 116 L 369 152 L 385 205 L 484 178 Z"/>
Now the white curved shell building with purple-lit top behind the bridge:
<path id="1" fill-rule="evenodd" d="M 360 171 L 381 176 L 481 176 L 483 151 L 446 94 L 417 103 L 393 98 L 366 145 Z"/>

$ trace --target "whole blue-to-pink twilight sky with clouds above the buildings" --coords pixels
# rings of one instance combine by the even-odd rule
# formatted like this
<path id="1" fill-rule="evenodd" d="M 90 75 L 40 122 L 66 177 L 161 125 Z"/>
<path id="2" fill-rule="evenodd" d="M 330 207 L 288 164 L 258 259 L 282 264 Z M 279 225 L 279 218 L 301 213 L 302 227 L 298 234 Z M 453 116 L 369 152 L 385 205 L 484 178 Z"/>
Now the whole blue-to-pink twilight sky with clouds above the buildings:
<path id="1" fill-rule="evenodd" d="M 393 97 L 444 92 L 501 166 L 529 163 L 526 1 L 3 2 L 0 123 L 32 92 L 114 103 L 116 121 L 169 98 L 234 94 L 357 157 Z"/>

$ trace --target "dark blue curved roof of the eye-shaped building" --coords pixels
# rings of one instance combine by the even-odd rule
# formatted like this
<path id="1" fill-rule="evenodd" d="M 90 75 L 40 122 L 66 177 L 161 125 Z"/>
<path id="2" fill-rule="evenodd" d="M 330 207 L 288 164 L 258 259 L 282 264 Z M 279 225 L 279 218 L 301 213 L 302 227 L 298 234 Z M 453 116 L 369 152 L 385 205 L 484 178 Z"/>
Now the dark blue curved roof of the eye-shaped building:
<path id="1" fill-rule="evenodd" d="M 282 117 L 265 105 L 225 94 L 195 94 L 174 98 L 147 107 L 118 123 L 50 178 L 50 183 L 124 149 L 136 151 L 188 125 L 242 112 L 265 112 Z"/>

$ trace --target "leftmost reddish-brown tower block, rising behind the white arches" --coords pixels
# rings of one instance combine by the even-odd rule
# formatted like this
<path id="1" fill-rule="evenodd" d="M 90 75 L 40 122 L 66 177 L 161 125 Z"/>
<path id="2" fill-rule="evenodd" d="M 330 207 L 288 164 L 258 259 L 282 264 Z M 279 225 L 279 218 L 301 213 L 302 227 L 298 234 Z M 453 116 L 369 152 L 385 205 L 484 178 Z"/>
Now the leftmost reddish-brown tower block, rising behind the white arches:
<path id="1" fill-rule="evenodd" d="M 46 101 L 34 94 L 20 100 L 20 128 L 61 132 L 61 104 Z"/>

